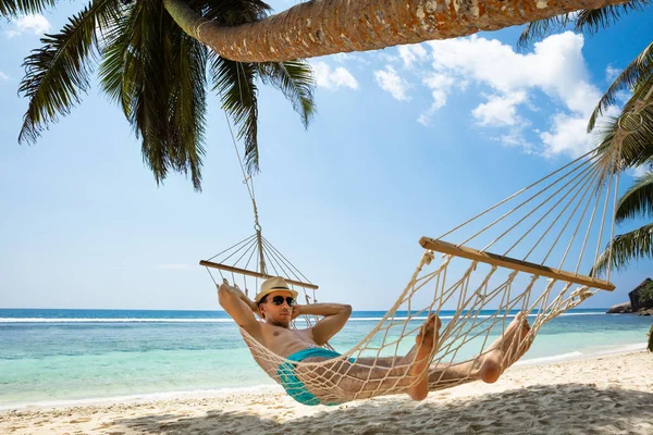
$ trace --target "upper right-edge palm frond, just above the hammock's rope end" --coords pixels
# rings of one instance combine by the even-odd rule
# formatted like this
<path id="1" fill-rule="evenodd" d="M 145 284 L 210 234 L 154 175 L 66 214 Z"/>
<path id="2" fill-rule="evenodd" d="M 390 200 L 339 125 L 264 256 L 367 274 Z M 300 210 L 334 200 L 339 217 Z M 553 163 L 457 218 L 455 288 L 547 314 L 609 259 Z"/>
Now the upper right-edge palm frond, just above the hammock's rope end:
<path id="1" fill-rule="evenodd" d="M 588 123 L 588 132 L 594 129 L 596 119 L 602 115 L 603 112 L 611 105 L 614 105 L 617 100 L 617 94 L 621 90 L 632 90 L 638 83 L 645 83 L 653 76 L 653 42 L 651 42 L 644 50 L 638 54 L 637 58 L 619 74 L 619 76 L 613 82 L 607 91 L 601 97 L 596 108 L 590 116 Z M 649 86 L 650 88 L 650 86 Z M 641 89 L 640 89 L 641 90 Z M 648 89 L 646 89 L 648 90 Z M 638 97 L 643 97 L 641 91 Z M 633 95 L 634 97 L 634 95 Z M 630 99 L 633 100 L 632 98 Z M 626 104 L 625 109 L 628 107 Z"/>

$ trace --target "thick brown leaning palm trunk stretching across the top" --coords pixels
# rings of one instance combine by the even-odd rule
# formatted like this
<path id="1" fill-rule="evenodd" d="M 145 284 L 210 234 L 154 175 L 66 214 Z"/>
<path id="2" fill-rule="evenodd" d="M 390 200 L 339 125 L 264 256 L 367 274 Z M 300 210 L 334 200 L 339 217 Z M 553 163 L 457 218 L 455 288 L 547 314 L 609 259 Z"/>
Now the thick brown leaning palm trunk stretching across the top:
<path id="1" fill-rule="evenodd" d="M 281 62 L 456 38 L 627 1 L 312 0 L 234 27 L 205 20 L 184 0 L 163 0 L 163 3 L 187 34 L 223 58 Z"/>

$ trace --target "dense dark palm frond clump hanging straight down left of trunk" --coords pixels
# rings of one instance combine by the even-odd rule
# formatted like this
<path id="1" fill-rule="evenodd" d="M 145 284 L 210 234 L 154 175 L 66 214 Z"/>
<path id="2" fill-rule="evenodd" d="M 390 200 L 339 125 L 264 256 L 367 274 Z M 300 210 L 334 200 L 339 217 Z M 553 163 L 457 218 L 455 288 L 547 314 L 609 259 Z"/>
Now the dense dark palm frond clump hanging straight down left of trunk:
<path id="1" fill-rule="evenodd" d="M 158 0 L 134 2 L 108 33 L 102 88 L 118 100 L 141 140 L 157 184 L 170 170 L 190 172 L 201 189 L 207 50 Z"/>

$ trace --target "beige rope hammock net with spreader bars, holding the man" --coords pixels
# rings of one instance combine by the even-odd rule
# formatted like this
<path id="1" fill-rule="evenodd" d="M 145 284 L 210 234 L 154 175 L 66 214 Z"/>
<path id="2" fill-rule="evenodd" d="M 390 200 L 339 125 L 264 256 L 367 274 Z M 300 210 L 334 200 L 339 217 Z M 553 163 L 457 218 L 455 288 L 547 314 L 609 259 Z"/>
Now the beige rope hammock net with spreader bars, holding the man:
<path id="1" fill-rule="evenodd" d="M 288 361 L 241 333 L 270 377 L 288 393 L 305 386 L 316 396 L 307 405 L 407 393 L 423 376 L 429 390 L 478 380 L 472 373 L 478 361 L 521 312 L 530 330 L 502 344 L 501 364 L 510 365 L 546 322 L 599 290 L 614 289 L 609 268 L 601 279 L 593 266 L 611 261 L 612 252 L 603 248 L 614 237 L 619 162 L 620 146 L 592 150 L 442 236 L 422 237 L 424 251 L 395 303 L 338 358 Z M 256 234 L 200 264 L 245 291 L 256 293 L 268 276 L 282 276 L 305 303 L 317 302 L 318 286 L 262 237 L 252 189 L 250 196 Z M 440 315 L 444 307 L 455 307 L 455 313 Z M 424 364 L 424 358 L 408 350 L 431 314 L 441 318 L 442 326 Z M 292 327 L 308 327 L 317 320 L 297 319 Z M 410 374 L 416 364 L 424 368 L 421 376 Z M 292 368 L 293 376 L 284 366 Z"/>

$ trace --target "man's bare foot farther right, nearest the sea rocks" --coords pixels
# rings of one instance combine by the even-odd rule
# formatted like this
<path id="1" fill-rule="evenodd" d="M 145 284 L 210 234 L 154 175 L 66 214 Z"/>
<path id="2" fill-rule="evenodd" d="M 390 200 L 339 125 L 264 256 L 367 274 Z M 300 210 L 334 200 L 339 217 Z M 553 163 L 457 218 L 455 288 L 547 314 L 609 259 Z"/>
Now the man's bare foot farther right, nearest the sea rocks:
<path id="1" fill-rule="evenodd" d="M 530 345 L 526 345 L 523 339 L 529 331 L 526 315 L 518 312 L 506 332 L 477 359 L 479 377 L 483 382 L 489 384 L 496 382 L 508 366 L 526 353 Z"/>

